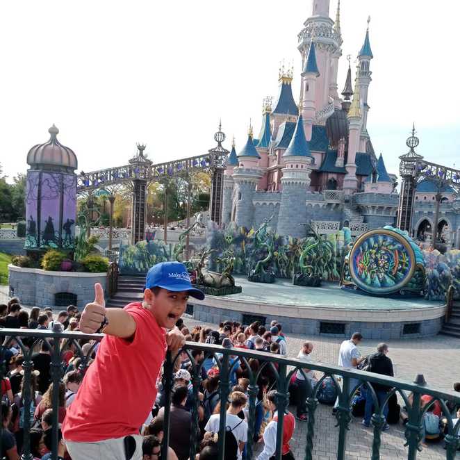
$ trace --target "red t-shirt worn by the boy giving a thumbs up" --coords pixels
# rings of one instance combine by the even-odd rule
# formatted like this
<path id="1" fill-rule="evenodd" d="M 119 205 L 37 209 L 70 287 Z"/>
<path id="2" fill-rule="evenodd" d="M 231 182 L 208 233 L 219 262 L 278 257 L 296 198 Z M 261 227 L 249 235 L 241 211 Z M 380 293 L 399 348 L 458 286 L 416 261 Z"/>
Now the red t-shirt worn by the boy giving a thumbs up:
<path id="1" fill-rule="evenodd" d="M 94 443 L 138 434 L 156 398 L 166 354 L 166 331 L 136 302 L 124 307 L 135 320 L 133 340 L 105 336 L 95 362 L 67 408 L 63 437 Z"/>

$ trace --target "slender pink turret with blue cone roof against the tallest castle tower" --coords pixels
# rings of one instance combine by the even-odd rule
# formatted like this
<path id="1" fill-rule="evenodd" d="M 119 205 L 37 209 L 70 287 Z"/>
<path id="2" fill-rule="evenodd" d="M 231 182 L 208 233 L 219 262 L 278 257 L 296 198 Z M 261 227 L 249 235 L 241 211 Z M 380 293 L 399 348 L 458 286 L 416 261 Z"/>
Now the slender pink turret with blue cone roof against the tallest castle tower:
<path id="1" fill-rule="evenodd" d="M 320 76 L 320 71 L 316 62 L 315 44 L 312 40 L 302 72 L 302 116 L 306 140 L 311 140 L 311 130 L 315 121 L 316 79 L 318 76 Z"/>

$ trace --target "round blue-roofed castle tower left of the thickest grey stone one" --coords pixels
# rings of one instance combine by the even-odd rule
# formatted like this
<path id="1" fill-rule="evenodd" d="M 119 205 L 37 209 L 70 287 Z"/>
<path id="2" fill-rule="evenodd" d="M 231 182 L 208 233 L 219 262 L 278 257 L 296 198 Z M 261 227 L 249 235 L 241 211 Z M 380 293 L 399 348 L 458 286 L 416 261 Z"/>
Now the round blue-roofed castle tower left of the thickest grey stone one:
<path id="1" fill-rule="evenodd" d="M 238 166 L 233 170 L 233 181 L 235 192 L 233 195 L 233 208 L 235 209 L 234 220 L 241 227 L 252 227 L 254 220 L 254 204 L 252 199 L 258 181 L 263 176 L 258 166 L 260 156 L 254 147 L 252 140 L 252 127 L 249 128 L 249 135 L 243 150 L 237 155 Z"/>

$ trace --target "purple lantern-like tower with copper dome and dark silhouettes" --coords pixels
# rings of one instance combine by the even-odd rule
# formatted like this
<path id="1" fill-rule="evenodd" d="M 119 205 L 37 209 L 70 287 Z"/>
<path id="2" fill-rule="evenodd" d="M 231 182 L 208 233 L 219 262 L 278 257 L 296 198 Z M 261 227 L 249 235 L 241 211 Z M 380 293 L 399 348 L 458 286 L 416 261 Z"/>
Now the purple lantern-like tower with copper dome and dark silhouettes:
<path id="1" fill-rule="evenodd" d="M 27 252 L 53 247 L 74 250 L 76 222 L 76 155 L 56 138 L 34 145 L 27 154 L 26 244 Z"/>

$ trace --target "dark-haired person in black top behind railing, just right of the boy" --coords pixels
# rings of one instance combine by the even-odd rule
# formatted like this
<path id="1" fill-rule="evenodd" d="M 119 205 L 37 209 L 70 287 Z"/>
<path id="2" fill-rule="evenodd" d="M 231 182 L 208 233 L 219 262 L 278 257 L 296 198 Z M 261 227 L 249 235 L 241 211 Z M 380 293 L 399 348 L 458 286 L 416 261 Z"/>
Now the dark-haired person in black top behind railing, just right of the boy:
<path id="1" fill-rule="evenodd" d="M 170 447 L 179 460 L 188 460 L 190 454 L 190 434 L 192 432 L 192 414 L 186 411 L 188 397 L 186 386 L 176 386 L 171 397 L 170 411 Z M 158 411 L 158 418 L 164 421 L 165 408 Z M 199 433 L 197 433 L 197 436 Z"/>

